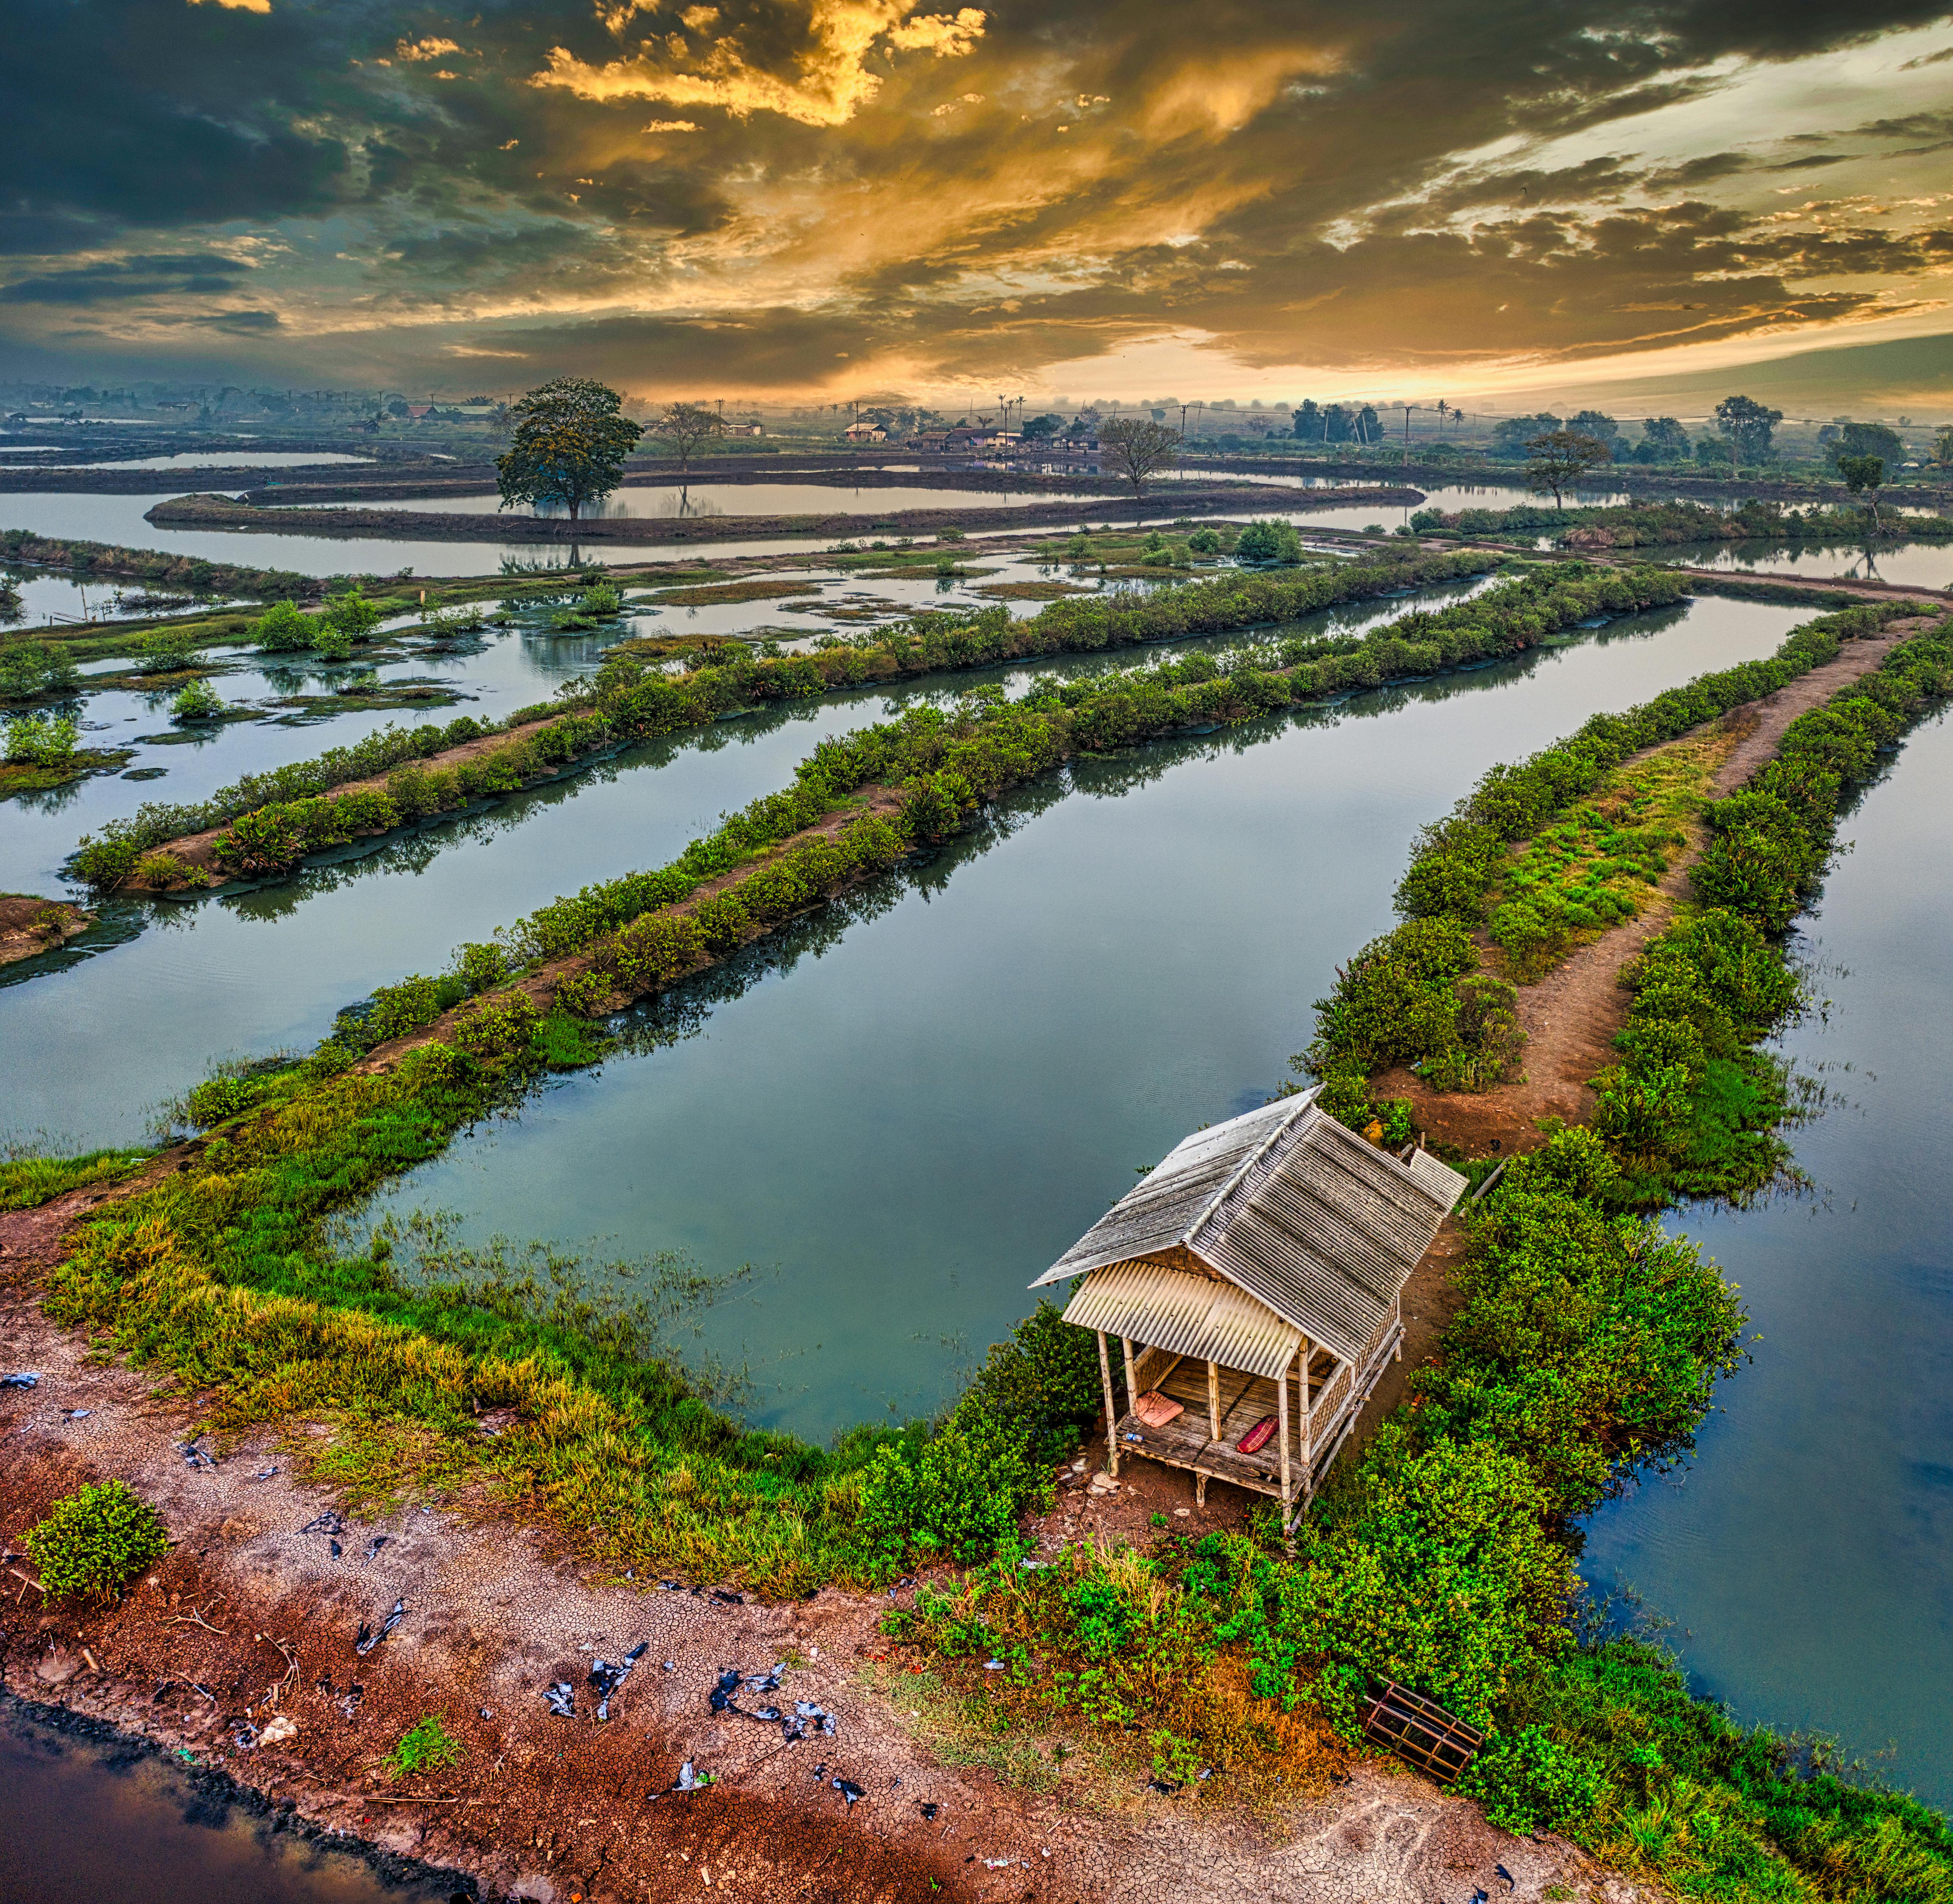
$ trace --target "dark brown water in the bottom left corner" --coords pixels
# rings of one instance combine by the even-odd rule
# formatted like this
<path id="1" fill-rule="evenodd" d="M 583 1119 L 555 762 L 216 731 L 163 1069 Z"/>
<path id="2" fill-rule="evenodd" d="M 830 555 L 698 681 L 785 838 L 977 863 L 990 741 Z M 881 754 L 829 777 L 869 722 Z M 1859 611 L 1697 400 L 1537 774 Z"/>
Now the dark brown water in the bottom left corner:
<path id="1" fill-rule="evenodd" d="M 447 1904 L 453 1879 L 389 1875 L 275 1832 L 146 1748 L 0 1707 L 6 1904 Z"/>

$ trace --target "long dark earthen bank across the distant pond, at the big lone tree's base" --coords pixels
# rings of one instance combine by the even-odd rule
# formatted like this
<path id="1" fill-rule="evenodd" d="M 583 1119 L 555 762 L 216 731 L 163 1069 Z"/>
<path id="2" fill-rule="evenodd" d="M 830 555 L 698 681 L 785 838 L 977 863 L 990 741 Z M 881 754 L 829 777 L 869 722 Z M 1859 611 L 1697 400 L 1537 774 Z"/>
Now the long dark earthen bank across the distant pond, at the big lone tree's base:
<path id="1" fill-rule="evenodd" d="M 1422 490 L 1361 488 L 1336 490 L 1322 508 L 1375 504 L 1377 508 L 1416 508 Z M 1240 516 L 1271 506 L 1267 484 L 1203 482 L 1199 488 L 1170 488 L 1135 502 L 1131 496 L 1080 496 L 1080 502 L 1033 502 L 1021 508 L 969 510 L 891 510 L 809 516 L 693 516 L 662 519 L 644 516 L 600 516 L 568 521 L 555 516 L 445 516 L 420 510 L 264 510 L 232 502 L 229 496 L 174 496 L 148 510 L 145 521 L 170 529 L 250 529 L 266 535 L 391 537 L 420 543 L 740 543 L 758 537 L 803 535 L 810 539 L 859 535 L 939 535 L 943 529 L 1070 529 L 1084 516 L 1098 521 L 1141 521 L 1178 516 Z M 1279 498 L 1277 498 L 1279 500 Z M 1084 510 L 1080 504 L 1090 502 Z"/>

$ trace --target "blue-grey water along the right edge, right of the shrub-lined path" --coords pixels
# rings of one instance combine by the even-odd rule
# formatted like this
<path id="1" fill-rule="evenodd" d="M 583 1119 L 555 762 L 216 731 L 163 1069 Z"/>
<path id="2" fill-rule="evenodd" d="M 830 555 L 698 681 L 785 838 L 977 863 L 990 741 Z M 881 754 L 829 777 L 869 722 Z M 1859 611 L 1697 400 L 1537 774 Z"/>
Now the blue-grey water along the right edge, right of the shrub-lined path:
<path id="1" fill-rule="evenodd" d="M 1699 1457 L 1594 1517 L 1584 1570 L 1639 1592 L 1744 1722 L 1836 1734 L 1953 1808 L 1953 721 L 1848 814 L 1799 928 L 1820 1008 L 1779 1049 L 1828 1109 L 1807 1195 L 1689 1211 L 1742 1285 L 1752 1361 Z M 1894 1748 L 1889 1759 L 1879 1759 Z"/>

